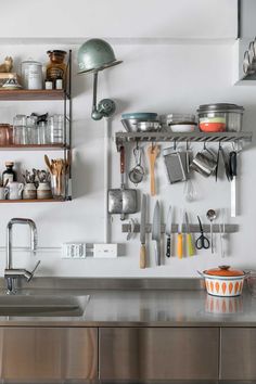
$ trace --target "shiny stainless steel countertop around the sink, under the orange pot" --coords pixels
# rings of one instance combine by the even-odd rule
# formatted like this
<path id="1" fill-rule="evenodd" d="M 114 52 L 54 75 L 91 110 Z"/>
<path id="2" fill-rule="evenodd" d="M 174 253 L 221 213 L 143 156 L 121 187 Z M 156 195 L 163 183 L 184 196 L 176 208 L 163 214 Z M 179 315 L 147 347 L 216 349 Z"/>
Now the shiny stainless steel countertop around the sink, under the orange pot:
<path id="1" fill-rule="evenodd" d="M 0 327 L 256 327 L 256 298 L 219 299 L 203 290 L 22 290 L 90 295 L 80 317 L 0 317 Z M 232 311 L 232 313 L 221 312 Z M 212 312 L 213 310 L 220 311 Z"/>

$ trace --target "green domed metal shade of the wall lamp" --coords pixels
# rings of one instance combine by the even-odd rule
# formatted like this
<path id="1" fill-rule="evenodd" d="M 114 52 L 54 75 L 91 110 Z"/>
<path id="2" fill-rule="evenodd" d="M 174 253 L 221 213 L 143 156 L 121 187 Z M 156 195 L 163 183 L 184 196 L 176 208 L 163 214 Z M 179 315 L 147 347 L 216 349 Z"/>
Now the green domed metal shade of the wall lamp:
<path id="1" fill-rule="evenodd" d="M 101 39 L 86 41 L 78 50 L 78 73 L 93 73 L 120 64 L 108 42 Z"/>

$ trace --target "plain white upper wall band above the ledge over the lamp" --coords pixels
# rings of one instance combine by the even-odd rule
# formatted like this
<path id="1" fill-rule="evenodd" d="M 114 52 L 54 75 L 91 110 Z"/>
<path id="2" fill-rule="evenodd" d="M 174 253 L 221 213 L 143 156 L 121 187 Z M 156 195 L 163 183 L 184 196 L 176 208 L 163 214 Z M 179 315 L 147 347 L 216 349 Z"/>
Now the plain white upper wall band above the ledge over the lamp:
<path id="1" fill-rule="evenodd" d="M 9 0 L 0 37 L 233 39 L 236 24 L 235 0 Z"/>

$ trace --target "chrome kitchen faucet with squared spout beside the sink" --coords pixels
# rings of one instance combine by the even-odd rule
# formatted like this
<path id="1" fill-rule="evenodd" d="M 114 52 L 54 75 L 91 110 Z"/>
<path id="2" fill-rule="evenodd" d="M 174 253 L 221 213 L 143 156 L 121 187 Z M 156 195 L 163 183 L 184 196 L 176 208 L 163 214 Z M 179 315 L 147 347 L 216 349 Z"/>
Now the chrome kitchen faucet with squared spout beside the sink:
<path id="1" fill-rule="evenodd" d="M 7 268 L 4 270 L 4 278 L 7 280 L 7 294 L 15 294 L 15 279 L 25 278 L 27 281 L 30 281 L 34 277 L 34 273 L 37 267 L 40 264 L 40 260 L 36 264 L 31 272 L 22 268 L 13 268 L 12 263 L 12 227 L 13 225 L 28 225 L 30 228 L 30 249 L 35 254 L 37 248 L 37 227 L 31 219 L 24 218 L 13 218 L 9 221 L 7 227 Z"/>

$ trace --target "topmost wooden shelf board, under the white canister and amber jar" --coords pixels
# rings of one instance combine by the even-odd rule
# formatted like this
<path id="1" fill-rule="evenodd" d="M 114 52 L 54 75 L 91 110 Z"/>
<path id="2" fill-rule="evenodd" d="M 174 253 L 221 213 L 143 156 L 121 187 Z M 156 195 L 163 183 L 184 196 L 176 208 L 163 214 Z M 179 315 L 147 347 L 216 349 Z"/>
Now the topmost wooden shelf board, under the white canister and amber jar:
<path id="1" fill-rule="evenodd" d="M 69 95 L 63 89 L 0 89 L 0 101 L 3 100 L 64 100 Z"/>

